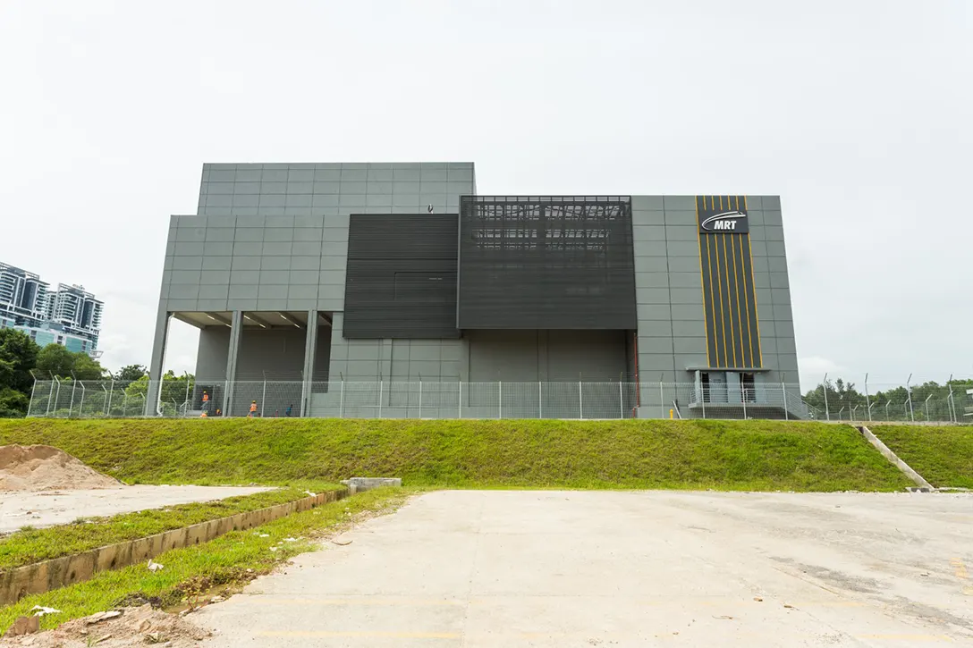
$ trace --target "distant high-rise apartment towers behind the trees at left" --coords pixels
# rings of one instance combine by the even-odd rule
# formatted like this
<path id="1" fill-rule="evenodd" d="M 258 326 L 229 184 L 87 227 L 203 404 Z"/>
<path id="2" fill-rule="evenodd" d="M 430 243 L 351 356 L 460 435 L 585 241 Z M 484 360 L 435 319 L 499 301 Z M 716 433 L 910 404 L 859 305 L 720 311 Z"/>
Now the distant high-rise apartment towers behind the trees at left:
<path id="1" fill-rule="evenodd" d="M 21 330 L 41 346 L 95 353 L 104 305 L 83 286 L 50 288 L 39 275 L 0 263 L 0 328 Z"/>

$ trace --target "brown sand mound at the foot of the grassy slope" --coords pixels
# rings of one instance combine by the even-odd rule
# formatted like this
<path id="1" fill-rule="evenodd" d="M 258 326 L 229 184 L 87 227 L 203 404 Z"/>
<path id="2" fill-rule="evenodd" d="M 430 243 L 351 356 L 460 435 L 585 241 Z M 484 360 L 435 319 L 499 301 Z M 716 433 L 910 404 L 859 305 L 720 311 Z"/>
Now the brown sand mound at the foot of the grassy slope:
<path id="1" fill-rule="evenodd" d="M 117 488 L 121 482 L 51 446 L 0 446 L 0 490 Z"/>

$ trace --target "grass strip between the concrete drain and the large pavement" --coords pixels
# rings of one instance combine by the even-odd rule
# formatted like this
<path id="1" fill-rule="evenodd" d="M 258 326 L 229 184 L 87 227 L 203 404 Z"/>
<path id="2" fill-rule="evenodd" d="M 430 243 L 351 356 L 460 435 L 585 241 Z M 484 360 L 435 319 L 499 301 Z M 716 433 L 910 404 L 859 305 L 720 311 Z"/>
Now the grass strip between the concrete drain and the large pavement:
<path id="1" fill-rule="evenodd" d="M 100 572 L 85 583 L 32 594 L 0 608 L 0 630 L 9 628 L 19 616 L 29 615 L 35 605 L 60 610 L 41 619 L 44 629 L 125 604 L 152 602 L 168 609 L 192 605 L 215 592 L 234 591 L 280 562 L 319 548 L 322 535 L 340 529 L 356 514 L 393 510 L 409 494 L 402 488 L 370 490 L 256 529 L 232 531 L 202 545 L 165 552 L 155 558 L 163 565 L 160 571 L 149 571 L 140 563 Z M 261 537 L 265 533 L 268 537 Z M 287 538 L 296 540 L 288 542 Z"/>

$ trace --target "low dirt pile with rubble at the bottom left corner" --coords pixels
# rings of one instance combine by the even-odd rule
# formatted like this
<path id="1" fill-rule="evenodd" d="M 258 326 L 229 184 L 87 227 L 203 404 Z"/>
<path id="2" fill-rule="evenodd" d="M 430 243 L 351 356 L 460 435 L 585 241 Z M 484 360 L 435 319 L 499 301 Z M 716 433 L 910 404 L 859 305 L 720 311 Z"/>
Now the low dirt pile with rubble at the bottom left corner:
<path id="1" fill-rule="evenodd" d="M 121 614 L 117 614 L 117 612 Z M 184 618 L 154 610 L 151 605 L 128 607 L 75 619 L 55 630 L 5 636 L 3 645 L 30 648 L 131 648 L 159 644 L 188 648 L 209 636 Z"/>

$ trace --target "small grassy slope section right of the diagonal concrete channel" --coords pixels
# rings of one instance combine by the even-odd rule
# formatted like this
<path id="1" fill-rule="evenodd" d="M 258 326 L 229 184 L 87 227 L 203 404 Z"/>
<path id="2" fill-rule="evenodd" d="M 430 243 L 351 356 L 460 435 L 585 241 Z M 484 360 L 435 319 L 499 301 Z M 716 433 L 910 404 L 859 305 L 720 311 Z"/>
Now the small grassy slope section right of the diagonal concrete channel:
<path id="1" fill-rule="evenodd" d="M 869 427 L 932 486 L 973 488 L 973 426 Z"/>

